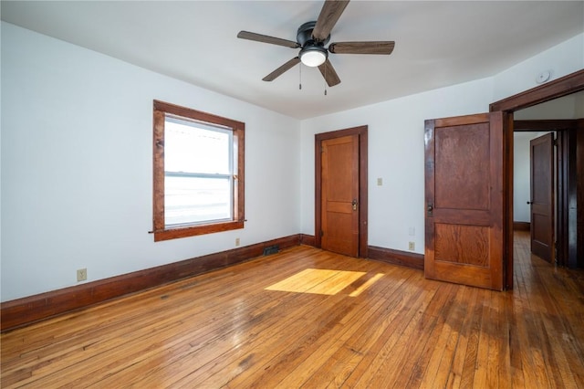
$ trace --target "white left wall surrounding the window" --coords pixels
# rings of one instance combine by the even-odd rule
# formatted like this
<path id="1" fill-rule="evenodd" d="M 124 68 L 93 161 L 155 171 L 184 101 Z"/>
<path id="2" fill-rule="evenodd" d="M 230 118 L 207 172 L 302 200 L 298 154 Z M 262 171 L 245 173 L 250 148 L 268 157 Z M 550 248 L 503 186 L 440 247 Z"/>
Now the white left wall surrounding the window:
<path id="1" fill-rule="evenodd" d="M 300 230 L 299 121 L 2 23 L 2 296 Z M 152 100 L 245 122 L 244 230 L 153 242 Z"/>

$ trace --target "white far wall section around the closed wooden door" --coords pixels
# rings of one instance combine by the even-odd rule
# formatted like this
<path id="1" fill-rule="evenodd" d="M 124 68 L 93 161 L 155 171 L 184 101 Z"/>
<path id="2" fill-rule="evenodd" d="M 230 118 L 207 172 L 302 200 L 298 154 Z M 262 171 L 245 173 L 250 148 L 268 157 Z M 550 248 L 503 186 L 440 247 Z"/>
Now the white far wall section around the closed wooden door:
<path id="1" fill-rule="evenodd" d="M 302 232 L 314 234 L 314 135 L 366 124 L 369 244 L 406 251 L 413 241 L 423 253 L 424 120 L 485 112 L 491 96 L 491 79 L 480 79 L 303 121 Z"/>

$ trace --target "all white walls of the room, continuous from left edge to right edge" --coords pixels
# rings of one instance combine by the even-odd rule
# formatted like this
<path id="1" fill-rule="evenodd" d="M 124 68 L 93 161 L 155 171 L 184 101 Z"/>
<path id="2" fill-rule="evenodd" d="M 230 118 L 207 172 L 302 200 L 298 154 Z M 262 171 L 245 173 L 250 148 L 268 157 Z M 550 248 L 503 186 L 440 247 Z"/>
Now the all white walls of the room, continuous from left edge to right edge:
<path id="1" fill-rule="evenodd" d="M 487 111 L 536 86 L 539 69 L 558 78 L 584 68 L 583 42 L 492 78 L 297 121 L 2 23 L 1 300 L 75 285 L 77 268 L 91 281 L 233 248 L 235 237 L 312 235 L 314 134 L 363 124 L 369 244 L 414 241 L 422 253 L 424 120 Z M 154 99 L 245 121 L 244 230 L 153 243 Z"/>

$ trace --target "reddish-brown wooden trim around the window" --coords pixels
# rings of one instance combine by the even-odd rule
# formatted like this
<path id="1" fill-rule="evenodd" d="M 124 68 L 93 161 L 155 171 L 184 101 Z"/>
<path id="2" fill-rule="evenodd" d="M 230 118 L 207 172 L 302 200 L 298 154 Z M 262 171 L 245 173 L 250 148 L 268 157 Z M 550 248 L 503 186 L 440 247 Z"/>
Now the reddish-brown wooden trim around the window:
<path id="1" fill-rule="evenodd" d="M 212 113 L 181 107 L 160 100 L 153 101 L 153 234 L 154 241 L 194 237 L 244 227 L 245 222 L 245 123 Z M 203 121 L 233 129 L 237 148 L 237 173 L 234 177 L 233 220 L 197 224 L 195 226 L 167 227 L 164 224 L 164 121 L 165 114 L 194 121 Z"/>

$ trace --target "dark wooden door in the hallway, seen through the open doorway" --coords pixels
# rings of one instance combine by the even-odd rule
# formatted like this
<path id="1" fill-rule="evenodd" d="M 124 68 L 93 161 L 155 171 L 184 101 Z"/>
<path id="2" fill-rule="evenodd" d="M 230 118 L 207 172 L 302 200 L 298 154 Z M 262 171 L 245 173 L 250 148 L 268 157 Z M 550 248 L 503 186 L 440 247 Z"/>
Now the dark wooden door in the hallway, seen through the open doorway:
<path id="1" fill-rule="evenodd" d="M 554 258 L 554 133 L 529 142 L 531 173 L 531 252 Z"/>

